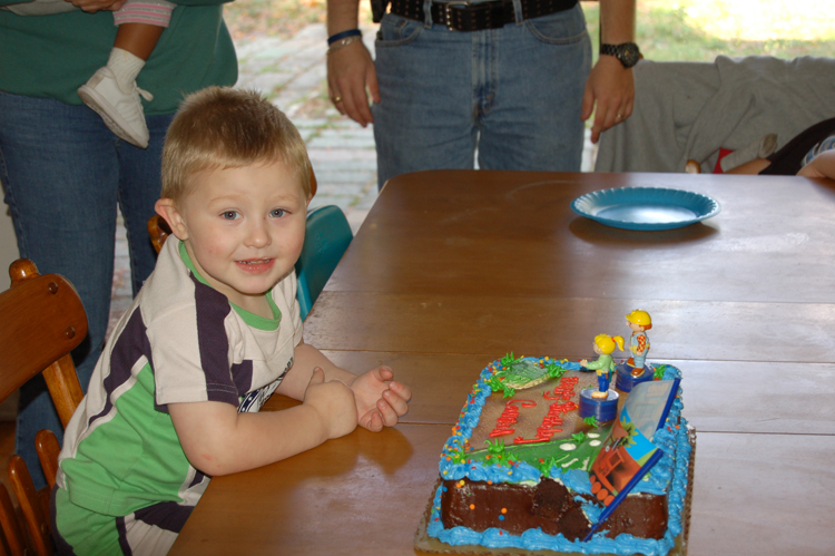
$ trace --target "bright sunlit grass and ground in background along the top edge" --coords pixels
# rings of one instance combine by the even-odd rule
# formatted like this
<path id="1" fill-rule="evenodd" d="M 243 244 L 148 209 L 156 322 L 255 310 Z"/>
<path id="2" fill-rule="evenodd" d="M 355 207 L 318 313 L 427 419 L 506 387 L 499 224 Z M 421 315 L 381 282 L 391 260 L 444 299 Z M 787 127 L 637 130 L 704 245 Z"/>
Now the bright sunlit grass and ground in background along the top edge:
<path id="1" fill-rule="evenodd" d="M 371 22 L 369 0 L 360 0 Z M 593 51 L 599 7 L 583 1 Z M 237 0 L 224 7 L 236 39 L 253 35 L 292 37 L 325 21 L 325 0 Z M 648 59 L 713 61 L 717 56 L 835 55 L 832 0 L 638 0 L 637 42 Z"/>

